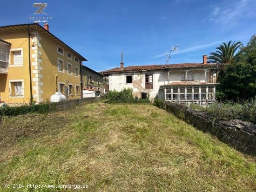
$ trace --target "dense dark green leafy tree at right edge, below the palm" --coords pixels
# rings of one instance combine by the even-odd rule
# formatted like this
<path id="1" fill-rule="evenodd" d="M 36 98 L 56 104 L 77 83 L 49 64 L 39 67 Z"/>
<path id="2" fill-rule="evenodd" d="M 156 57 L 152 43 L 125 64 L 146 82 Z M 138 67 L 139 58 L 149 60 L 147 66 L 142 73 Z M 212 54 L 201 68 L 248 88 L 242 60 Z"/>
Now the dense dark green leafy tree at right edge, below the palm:
<path id="1" fill-rule="evenodd" d="M 218 91 L 228 99 L 236 101 L 256 96 L 256 35 L 253 35 L 247 46 L 242 46 L 230 65 L 225 67 L 219 77 L 221 85 Z"/>

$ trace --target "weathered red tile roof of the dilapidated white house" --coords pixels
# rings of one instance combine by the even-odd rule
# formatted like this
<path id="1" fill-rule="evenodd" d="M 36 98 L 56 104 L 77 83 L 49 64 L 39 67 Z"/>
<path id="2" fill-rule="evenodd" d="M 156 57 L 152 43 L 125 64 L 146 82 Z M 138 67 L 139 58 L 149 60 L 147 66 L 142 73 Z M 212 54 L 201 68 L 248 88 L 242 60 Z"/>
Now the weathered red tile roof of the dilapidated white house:
<path id="1" fill-rule="evenodd" d="M 148 65 L 148 66 L 127 66 L 127 67 L 115 67 L 106 71 L 102 71 L 102 74 L 109 73 L 121 73 L 121 72 L 134 72 L 134 71 L 148 71 L 148 70 L 161 70 L 168 68 L 184 68 L 184 67 L 208 67 L 208 66 L 224 66 L 224 64 L 218 63 L 180 63 L 180 64 L 168 64 L 168 65 Z"/>

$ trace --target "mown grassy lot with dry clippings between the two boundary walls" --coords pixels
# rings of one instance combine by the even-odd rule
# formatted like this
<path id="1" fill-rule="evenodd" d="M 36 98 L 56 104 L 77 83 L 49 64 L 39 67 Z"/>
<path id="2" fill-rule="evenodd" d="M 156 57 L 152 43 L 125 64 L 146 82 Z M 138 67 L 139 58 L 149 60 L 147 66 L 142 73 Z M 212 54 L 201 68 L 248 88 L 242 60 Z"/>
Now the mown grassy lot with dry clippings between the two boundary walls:
<path id="1" fill-rule="evenodd" d="M 0 127 L 2 191 L 22 183 L 88 185 L 35 191 L 256 191 L 255 157 L 148 104 L 3 117 Z"/>

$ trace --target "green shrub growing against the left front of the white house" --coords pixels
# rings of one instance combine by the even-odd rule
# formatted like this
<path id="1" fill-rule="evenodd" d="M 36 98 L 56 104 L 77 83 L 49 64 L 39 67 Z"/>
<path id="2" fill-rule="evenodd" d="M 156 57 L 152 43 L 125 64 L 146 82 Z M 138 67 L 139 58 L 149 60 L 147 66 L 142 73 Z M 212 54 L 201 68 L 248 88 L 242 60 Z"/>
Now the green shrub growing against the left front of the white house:
<path id="1" fill-rule="evenodd" d="M 123 89 L 121 92 L 118 91 L 109 91 L 108 92 L 108 102 L 109 103 L 133 103 L 135 99 L 132 95 L 133 90 Z"/>

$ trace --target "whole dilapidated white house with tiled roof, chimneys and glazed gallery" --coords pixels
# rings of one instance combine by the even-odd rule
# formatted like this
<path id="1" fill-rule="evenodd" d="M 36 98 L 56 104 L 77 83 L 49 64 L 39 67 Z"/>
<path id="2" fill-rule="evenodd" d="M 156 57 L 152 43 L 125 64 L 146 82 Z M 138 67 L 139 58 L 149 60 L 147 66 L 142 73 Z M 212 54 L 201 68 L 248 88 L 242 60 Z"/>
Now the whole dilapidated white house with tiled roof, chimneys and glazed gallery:
<path id="1" fill-rule="evenodd" d="M 224 64 L 181 63 L 168 65 L 123 66 L 101 72 L 108 76 L 109 90 L 132 88 L 133 95 L 153 100 L 204 105 L 215 100 L 217 77 Z"/>

